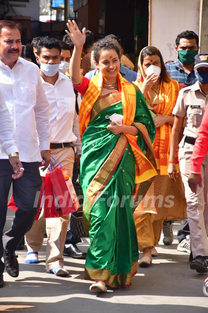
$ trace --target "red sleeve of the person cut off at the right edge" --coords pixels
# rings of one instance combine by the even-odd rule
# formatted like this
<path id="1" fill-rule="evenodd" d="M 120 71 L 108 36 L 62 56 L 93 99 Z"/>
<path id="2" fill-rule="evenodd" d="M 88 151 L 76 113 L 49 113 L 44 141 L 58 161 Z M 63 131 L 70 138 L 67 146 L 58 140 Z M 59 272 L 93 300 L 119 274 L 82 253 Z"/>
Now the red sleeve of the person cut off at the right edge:
<path id="1" fill-rule="evenodd" d="M 191 162 L 191 173 L 201 173 L 201 163 L 203 162 L 208 152 L 208 106 L 204 112 L 204 116 L 201 121 L 201 126 L 198 131 L 198 138 L 194 145 L 194 151 L 192 153 Z"/>

